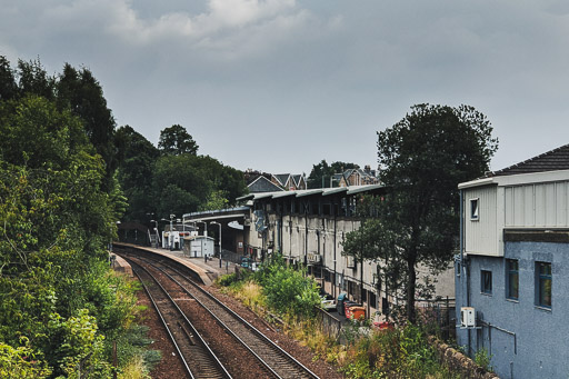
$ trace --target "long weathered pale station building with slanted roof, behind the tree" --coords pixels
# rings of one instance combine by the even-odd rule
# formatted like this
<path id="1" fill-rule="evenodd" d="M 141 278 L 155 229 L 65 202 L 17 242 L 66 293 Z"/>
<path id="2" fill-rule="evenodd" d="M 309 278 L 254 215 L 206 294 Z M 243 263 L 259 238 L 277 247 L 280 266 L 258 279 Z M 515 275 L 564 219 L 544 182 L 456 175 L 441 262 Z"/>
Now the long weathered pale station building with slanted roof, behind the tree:
<path id="1" fill-rule="evenodd" d="M 327 293 L 347 292 L 368 316 L 383 315 L 399 299 L 379 279 L 378 263 L 343 256 L 347 233 L 357 230 L 358 200 L 385 193 L 382 184 L 251 193 L 239 198 L 250 207 L 244 219 L 244 252 L 258 260 L 279 252 L 291 265 L 302 263 Z M 419 268 L 419 277 L 427 270 Z M 436 295 L 453 300 L 452 265 L 438 277 Z"/>

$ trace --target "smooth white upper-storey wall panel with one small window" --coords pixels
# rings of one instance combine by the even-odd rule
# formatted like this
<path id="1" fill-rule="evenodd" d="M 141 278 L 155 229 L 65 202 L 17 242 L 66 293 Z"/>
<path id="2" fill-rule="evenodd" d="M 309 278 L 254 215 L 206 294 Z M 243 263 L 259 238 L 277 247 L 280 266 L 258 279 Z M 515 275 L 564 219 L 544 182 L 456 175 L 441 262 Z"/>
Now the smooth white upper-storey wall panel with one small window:
<path id="1" fill-rule="evenodd" d="M 477 220 L 470 218 L 470 200 L 478 199 Z M 465 251 L 498 256 L 497 187 L 475 187 L 463 192 Z"/>

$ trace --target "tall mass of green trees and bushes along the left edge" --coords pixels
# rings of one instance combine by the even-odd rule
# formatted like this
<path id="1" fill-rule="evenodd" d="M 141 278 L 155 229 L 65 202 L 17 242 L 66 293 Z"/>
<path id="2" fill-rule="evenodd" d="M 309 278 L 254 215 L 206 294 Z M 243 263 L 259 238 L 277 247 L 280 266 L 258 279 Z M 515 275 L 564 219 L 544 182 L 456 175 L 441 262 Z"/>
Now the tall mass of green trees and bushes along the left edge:
<path id="1" fill-rule="evenodd" d="M 136 288 L 106 251 L 124 197 L 90 141 L 110 129 L 86 129 L 110 113 L 96 110 L 90 73 L 81 80 L 66 93 L 79 104 L 63 101 L 39 61 L 0 60 L 0 377 L 108 378 L 109 346 L 134 317 Z"/>

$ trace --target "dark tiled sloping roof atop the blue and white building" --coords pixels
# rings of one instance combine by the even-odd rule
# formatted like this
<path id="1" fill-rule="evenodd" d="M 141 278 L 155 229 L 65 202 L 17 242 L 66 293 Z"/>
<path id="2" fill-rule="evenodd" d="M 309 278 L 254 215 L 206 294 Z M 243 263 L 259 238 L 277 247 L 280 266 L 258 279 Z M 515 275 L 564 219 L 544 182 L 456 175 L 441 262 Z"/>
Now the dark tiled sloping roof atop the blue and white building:
<path id="1" fill-rule="evenodd" d="M 563 144 L 517 164 L 491 172 L 489 177 L 558 170 L 569 170 L 569 144 Z"/>

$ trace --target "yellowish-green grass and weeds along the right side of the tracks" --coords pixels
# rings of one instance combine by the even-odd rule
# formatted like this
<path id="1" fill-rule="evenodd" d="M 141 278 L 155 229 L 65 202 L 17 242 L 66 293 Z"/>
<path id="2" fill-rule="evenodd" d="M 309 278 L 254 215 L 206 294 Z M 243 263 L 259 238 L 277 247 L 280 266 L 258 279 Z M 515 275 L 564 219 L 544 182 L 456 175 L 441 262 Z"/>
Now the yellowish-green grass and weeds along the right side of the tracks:
<path id="1" fill-rule="evenodd" d="M 228 285 L 224 287 L 226 292 L 257 315 L 267 316 L 267 300 L 259 283 L 251 279 L 221 280 L 224 281 L 218 283 Z M 460 375 L 439 363 L 435 348 L 427 340 L 427 333 L 412 325 L 395 330 L 361 332 L 360 327 L 366 325 L 355 322 L 342 328 L 342 339 L 347 343 L 340 345 L 322 331 L 320 322 L 315 318 L 299 318 L 288 312 L 283 321 L 284 332 L 310 348 L 315 352 L 315 360 L 323 359 L 335 365 L 347 378 L 460 378 Z"/>

